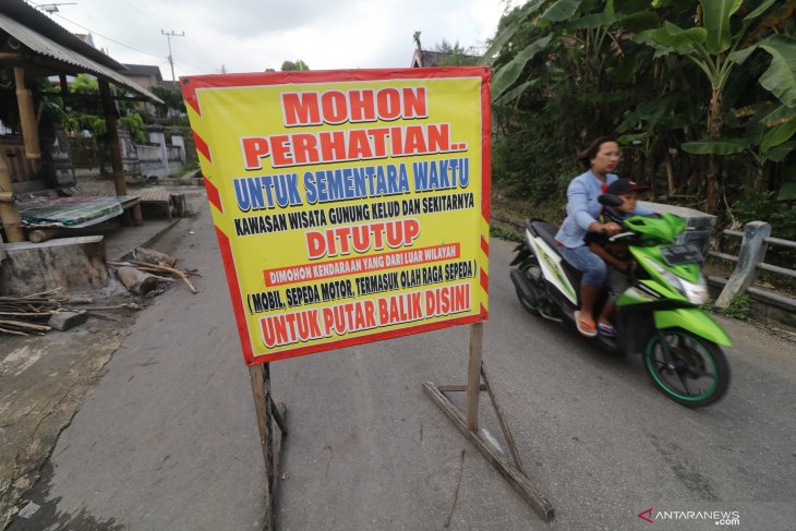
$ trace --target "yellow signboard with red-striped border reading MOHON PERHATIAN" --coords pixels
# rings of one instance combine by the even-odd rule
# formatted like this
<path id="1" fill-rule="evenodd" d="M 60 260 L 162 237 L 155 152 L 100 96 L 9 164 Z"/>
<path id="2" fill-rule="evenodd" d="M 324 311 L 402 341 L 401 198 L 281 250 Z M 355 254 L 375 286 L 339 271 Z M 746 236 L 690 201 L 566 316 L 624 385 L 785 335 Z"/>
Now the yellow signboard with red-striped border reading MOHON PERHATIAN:
<path id="1" fill-rule="evenodd" d="M 486 319 L 489 69 L 181 86 L 246 364 Z"/>

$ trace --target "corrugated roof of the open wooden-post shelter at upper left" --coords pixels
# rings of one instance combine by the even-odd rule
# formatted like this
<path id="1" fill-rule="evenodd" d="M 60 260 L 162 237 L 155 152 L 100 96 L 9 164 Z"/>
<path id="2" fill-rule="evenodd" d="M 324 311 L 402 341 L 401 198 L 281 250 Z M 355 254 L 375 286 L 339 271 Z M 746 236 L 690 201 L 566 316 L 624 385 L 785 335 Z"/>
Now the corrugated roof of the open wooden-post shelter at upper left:
<path id="1" fill-rule="evenodd" d="M 124 65 L 83 43 L 22 0 L 0 1 L 0 29 L 16 39 L 19 44 L 24 45 L 34 55 L 55 59 L 57 65 L 65 67 L 68 71 L 87 72 L 162 102 L 149 90 L 121 74 L 120 72 L 126 70 Z M 7 46 L 10 49 L 4 51 L 13 50 L 13 47 Z M 32 58 L 23 57 L 23 61 Z"/>

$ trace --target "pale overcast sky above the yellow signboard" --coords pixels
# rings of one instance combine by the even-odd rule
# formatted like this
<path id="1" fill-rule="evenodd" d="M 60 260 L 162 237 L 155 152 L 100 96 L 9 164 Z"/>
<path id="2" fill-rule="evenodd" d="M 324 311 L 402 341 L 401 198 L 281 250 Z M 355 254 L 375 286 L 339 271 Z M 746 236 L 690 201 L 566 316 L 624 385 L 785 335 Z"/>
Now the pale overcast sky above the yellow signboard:
<path id="1" fill-rule="evenodd" d="M 409 67 L 443 39 L 484 48 L 507 4 L 519 0 L 53 0 L 52 20 L 123 63 L 180 75 L 279 70 L 302 59 L 312 70 Z M 32 2 L 43 5 L 44 1 Z M 134 49 L 131 49 L 134 48 Z"/>

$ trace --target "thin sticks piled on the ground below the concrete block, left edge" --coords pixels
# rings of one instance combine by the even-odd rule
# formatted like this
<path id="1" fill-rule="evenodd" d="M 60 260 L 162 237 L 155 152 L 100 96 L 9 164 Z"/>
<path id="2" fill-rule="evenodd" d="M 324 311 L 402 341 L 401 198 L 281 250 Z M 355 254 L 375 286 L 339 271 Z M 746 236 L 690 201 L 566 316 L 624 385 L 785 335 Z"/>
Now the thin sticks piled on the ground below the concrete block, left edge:
<path id="1" fill-rule="evenodd" d="M 63 312 L 88 313 L 91 316 L 116 319 L 105 312 L 110 310 L 141 310 L 137 303 L 93 305 L 91 297 L 70 297 L 57 288 L 27 295 L 0 297 L 0 334 L 28 336 L 44 335 L 52 327 L 48 324 L 55 314 Z"/>

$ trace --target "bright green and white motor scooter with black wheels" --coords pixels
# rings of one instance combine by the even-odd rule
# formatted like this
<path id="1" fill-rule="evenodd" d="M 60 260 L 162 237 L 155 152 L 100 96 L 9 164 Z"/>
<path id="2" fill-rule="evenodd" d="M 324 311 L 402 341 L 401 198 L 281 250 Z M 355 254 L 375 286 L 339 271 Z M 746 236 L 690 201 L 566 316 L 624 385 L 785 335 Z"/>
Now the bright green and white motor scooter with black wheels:
<path id="1" fill-rule="evenodd" d="M 605 205 L 622 201 L 607 194 Z M 729 365 L 721 346 L 732 346 L 726 331 L 700 307 L 708 302 L 702 255 L 692 245 L 677 245 L 686 230 L 682 218 L 634 216 L 612 241 L 628 245 L 638 264 L 630 287 L 616 300 L 615 337 L 593 340 L 623 353 L 640 353 L 655 387 L 690 408 L 721 399 L 729 385 Z M 515 250 L 511 280 L 530 313 L 552 321 L 575 322 L 580 307 L 581 274 L 558 254 L 557 227 L 543 219 L 526 221 L 526 241 Z M 605 295 L 598 301 L 600 306 Z M 595 315 L 599 307 L 595 309 Z"/>

